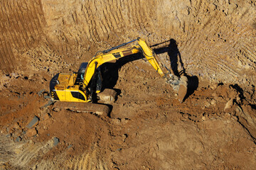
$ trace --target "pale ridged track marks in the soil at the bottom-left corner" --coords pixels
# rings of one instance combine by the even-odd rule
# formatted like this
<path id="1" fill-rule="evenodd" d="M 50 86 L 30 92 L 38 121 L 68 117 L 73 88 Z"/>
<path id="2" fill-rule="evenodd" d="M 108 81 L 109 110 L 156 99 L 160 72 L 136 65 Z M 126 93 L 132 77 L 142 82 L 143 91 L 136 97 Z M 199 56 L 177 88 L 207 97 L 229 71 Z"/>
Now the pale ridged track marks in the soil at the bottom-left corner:
<path id="1" fill-rule="evenodd" d="M 9 169 L 55 169 L 56 166 L 60 166 L 67 159 L 60 159 L 60 161 L 46 162 L 43 157 L 45 154 L 50 152 L 53 147 L 53 140 L 48 140 L 48 142 L 14 142 L 5 136 L 0 137 L 0 148 L 3 152 L 0 152 L 1 159 L 0 164 L 10 166 Z M 65 152 L 64 152 L 65 154 Z M 62 157 L 63 155 L 56 155 L 56 157 Z M 65 157 L 65 155 L 64 155 Z M 58 159 L 59 160 L 59 159 Z M 70 161 L 70 160 L 68 160 Z M 65 162 L 68 164 L 68 162 Z"/>

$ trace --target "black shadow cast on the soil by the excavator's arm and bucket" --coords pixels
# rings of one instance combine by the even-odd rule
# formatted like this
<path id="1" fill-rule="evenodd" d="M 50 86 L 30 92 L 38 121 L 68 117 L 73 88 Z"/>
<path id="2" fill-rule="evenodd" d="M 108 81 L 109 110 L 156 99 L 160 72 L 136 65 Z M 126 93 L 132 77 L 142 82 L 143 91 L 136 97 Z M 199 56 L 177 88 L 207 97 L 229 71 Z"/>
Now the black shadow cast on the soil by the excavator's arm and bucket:
<path id="1" fill-rule="evenodd" d="M 168 46 L 165 47 L 158 47 L 162 44 L 169 42 Z M 176 40 L 171 39 L 169 41 L 161 42 L 156 45 L 151 45 L 151 48 L 156 52 L 156 55 L 162 54 L 167 52 L 166 60 L 170 61 L 171 64 L 171 70 L 174 75 L 177 77 L 185 76 L 188 78 L 188 91 L 183 99 L 183 101 L 188 98 L 188 96 L 191 96 L 194 91 L 198 88 L 198 77 L 196 76 L 189 76 L 186 74 L 186 69 L 183 65 L 182 59 L 181 59 L 181 53 L 178 50 L 178 46 L 176 44 Z M 102 89 L 114 89 L 114 86 L 117 84 L 117 80 L 119 77 L 119 69 L 124 64 L 127 64 L 127 62 L 132 62 L 134 60 L 143 59 L 144 56 L 140 53 L 129 55 L 127 57 L 120 58 L 116 62 L 109 62 L 102 64 L 101 70 L 102 70 Z M 178 71 L 178 64 L 180 64 L 181 71 Z M 168 66 L 167 66 L 168 67 Z M 119 89 L 115 89 L 117 91 L 117 94 L 120 94 L 121 91 Z"/>

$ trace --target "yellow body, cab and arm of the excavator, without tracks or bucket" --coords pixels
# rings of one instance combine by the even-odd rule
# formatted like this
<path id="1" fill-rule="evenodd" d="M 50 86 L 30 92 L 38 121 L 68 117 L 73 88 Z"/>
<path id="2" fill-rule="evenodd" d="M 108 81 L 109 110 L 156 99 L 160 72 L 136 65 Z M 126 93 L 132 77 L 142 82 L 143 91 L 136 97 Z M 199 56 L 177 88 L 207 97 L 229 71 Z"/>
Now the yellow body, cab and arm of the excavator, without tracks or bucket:
<path id="1" fill-rule="evenodd" d="M 99 74 L 97 74 L 100 72 L 98 67 L 106 62 L 119 60 L 119 58 L 138 52 L 142 52 L 156 72 L 158 72 L 161 77 L 164 77 L 166 81 L 169 81 L 170 78 L 167 77 L 167 74 L 171 75 L 171 73 L 159 64 L 154 50 L 152 50 L 142 38 L 137 38 L 137 40 L 132 40 L 131 42 L 134 41 L 137 41 L 137 45 L 133 45 L 132 47 L 122 47 L 130 43 L 127 42 L 117 47 L 113 47 L 110 50 L 105 50 L 99 55 L 92 57 L 90 62 L 82 63 L 83 65 L 81 64 L 78 73 L 56 74 L 50 81 L 51 97 L 59 101 L 92 101 L 92 93 L 97 94 L 101 91 L 101 87 L 98 86 L 98 83 L 102 81 Z M 95 87 L 95 84 L 97 84 L 97 87 Z"/>

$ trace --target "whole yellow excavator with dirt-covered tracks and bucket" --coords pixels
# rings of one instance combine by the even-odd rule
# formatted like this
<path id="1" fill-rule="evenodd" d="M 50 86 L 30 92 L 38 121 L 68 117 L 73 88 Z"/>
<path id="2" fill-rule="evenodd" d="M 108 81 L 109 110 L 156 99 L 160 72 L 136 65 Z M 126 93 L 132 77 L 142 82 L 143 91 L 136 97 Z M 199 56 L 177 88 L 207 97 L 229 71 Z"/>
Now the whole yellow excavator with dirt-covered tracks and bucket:
<path id="1" fill-rule="evenodd" d="M 137 41 L 137 45 L 123 47 L 129 43 Z M 120 48 L 122 47 L 122 48 Z M 114 62 L 122 57 L 141 52 L 146 60 L 154 67 L 156 72 L 172 86 L 178 100 L 183 101 L 187 93 L 188 79 L 186 77 L 176 77 L 170 70 L 164 67 L 154 50 L 146 44 L 142 38 L 137 38 L 122 45 L 112 47 L 109 50 L 97 52 L 90 62 L 82 62 L 78 72 L 73 74 L 56 74 L 50 80 L 50 96 L 55 102 L 54 108 L 66 108 L 71 111 L 81 111 L 96 113 L 98 115 L 107 114 L 109 108 L 100 103 L 92 103 L 94 98 L 100 98 L 103 103 L 114 101 L 116 92 L 112 89 L 102 91 L 102 75 L 100 66 L 106 62 Z"/>

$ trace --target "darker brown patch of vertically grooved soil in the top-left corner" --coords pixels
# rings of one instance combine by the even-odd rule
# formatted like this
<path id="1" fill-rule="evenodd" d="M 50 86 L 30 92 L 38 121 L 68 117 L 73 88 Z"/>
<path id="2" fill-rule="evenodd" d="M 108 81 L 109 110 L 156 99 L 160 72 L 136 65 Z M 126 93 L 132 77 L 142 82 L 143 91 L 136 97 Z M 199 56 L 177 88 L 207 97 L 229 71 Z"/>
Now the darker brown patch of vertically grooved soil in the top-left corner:
<path id="1" fill-rule="evenodd" d="M 16 69 L 16 52 L 36 45 L 43 33 L 40 1 L 0 2 L 0 69 L 11 73 Z"/>

